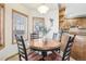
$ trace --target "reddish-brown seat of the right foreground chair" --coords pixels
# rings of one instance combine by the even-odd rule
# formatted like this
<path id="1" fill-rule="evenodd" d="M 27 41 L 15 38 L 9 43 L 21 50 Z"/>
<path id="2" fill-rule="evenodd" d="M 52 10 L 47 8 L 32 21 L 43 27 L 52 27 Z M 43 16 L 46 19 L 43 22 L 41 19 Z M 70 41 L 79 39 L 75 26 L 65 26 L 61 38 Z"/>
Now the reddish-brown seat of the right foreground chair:
<path id="1" fill-rule="evenodd" d="M 45 61 L 61 61 L 62 56 L 58 52 L 52 52 L 51 54 L 45 56 Z"/>

